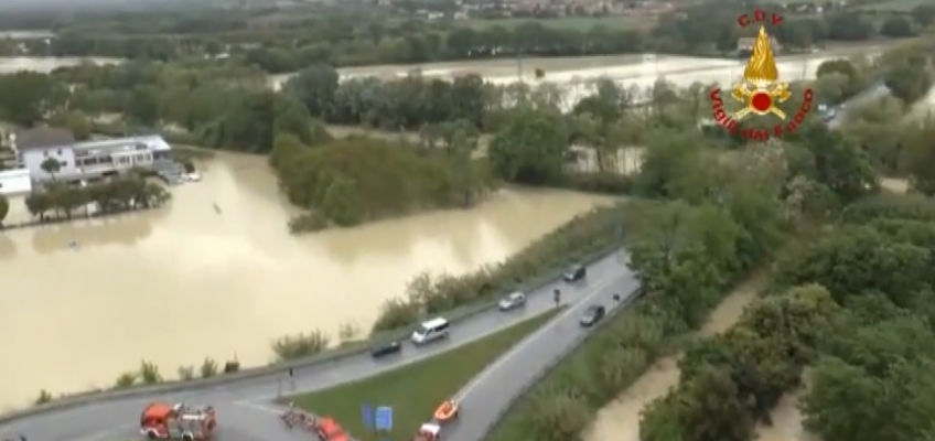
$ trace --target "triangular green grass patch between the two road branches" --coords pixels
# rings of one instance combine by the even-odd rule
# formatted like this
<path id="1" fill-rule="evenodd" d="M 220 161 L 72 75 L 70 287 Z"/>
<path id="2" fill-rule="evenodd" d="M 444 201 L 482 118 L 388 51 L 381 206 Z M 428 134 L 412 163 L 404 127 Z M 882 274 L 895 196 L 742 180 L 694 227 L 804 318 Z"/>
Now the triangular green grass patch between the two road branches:
<path id="1" fill-rule="evenodd" d="M 330 416 L 358 440 L 409 441 L 436 407 L 449 399 L 488 364 L 551 320 L 560 310 L 517 323 L 485 338 L 361 381 L 283 399 L 319 416 Z M 369 433 L 361 405 L 391 406 L 395 430 L 389 437 Z"/>

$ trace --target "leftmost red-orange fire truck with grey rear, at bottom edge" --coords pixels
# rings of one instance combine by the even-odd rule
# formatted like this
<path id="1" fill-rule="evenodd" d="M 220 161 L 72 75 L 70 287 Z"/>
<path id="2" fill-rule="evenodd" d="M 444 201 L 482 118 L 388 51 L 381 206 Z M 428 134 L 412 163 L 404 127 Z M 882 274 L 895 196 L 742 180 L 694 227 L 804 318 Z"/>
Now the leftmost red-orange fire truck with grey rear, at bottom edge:
<path id="1" fill-rule="evenodd" d="M 192 407 L 183 402 L 153 402 L 140 415 L 140 433 L 150 440 L 206 440 L 217 429 L 217 417 L 211 407 Z"/>

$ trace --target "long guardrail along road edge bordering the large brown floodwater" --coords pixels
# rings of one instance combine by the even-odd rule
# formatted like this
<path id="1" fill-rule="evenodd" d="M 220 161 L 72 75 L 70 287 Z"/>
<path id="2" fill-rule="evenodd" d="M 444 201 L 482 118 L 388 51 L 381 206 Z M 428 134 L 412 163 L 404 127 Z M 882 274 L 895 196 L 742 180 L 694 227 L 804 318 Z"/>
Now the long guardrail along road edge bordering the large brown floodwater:
<path id="1" fill-rule="evenodd" d="M 573 261 L 580 262 L 583 265 L 593 263 L 598 260 L 601 260 L 614 252 L 617 252 L 621 249 L 620 241 L 612 241 L 608 244 L 608 246 L 601 247 L 600 249 L 587 254 L 584 257 L 580 259 L 574 259 Z M 561 277 L 562 271 L 567 268 L 565 266 L 560 268 L 551 268 L 547 271 L 544 271 L 541 276 L 534 278 L 533 280 L 522 283 L 520 287 L 526 292 L 531 292 L 538 288 L 541 288 L 546 284 L 549 284 Z M 507 294 L 506 292 L 503 293 Z M 450 312 L 444 313 L 448 320 L 452 323 L 465 321 L 471 319 L 474 315 L 487 312 L 494 308 L 496 308 L 496 303 L 499 301 L 498 298 L 493 298 L 485 302 L 480 302 L 475 304 L 464 305 L 458 309 L 454 309 Z M 86 392 L 79 392 L 75 395 L 69 395 L 64 398 L 52 400 L 47 404 L 33 406 L 20 410 L 14 410 L 12 412 L 0 415 L 0 424 L 9 423 L 15 421 L 18 419 L 33 417 L 36 415 L 51 413 L 60 410 L 71 409 L 74 407 L 84 406 L 87 404 L 121 399 L 121 398 L 133 398 L 147 395 L 158 395 L 158 394 L 169 394 L 182 390 L 200 390 L 206 389 L 214 386 L 236 383 L 246 379 L 260 378 L 265 376 L 273 376 L 276 374 L 284 374 L 289 369 L 299 369 L 303 367 L 309 367 L 313 365 L 326 364 L 338 362 L 343 358 L 352 357 L 355 355 L 361 355 L 364 353 L 368 353 L 369 348 L 374 341 L 386 340 L 386 338 L 405 338 L 409 335 L 412 327 L 407 326 L 405 329 L 387 331 L 384 333 L 379 333 L 373 335 L 367 341 L 355 342 L 352 344 L 347 344 L 334 349 L 325 351 L 323 353 L 297 359 L 292 362 L 279 363 L 269 366 L 254 367 L 243 369 L 233 374 L 219 374 L 216 377 L 211 378 L 196 378 L 192 380 L 173 380 L 166 383 L 160 383 L 158 385 L 139 385 L 133 386 L 126 389 L 110 389 L 110 390 L 92 390 Z"/>

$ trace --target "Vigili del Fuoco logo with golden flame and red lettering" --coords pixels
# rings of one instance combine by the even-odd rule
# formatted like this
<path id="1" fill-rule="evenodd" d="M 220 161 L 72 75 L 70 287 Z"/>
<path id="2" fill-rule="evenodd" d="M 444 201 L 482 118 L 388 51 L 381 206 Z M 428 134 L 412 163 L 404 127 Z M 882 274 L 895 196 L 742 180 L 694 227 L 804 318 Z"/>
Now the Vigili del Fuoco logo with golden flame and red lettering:
<path id="1" fill-rule="evenodd" d="M 780 106 L 789 99 L 792 93 L 788 89 L 788 83 L 780 82 L 780 73 L 776 67 L 776 61 L 773 57 L 773 49 L 770 44 L 770 36 L 766 35 L 766 30 L 763 23 L 766 20 L 766 12 L 757 10 L 753 18 L 743 14 L 738 20 L 741 26 L 760 23 L 760 32 L 753 43 L 753 54 L 750 55 L 750 61 L 746 63 L 746 68 L 743 69 L 743 80 L 734 84 L 731 92 L 731 97 L 741 104 L 743 108 L 731 114 L 724 109 L 724 101 L 721 99 L 721 89 L 716 87 L 708 97 L 711 99 L 711 109 L 714 112 L 714 120 L 723 126 L 731 133 L 740 132 L 743 138 L 766 141 L 770 138 L 780 138 L 784 132 L 795 131 L 805 116 L 812 110 L 812 100 L 814 93 L 812 89 L 805 89 L 802 107 L 788 118 L 786 111 Z M 770 18 L 772 24 L 782 22 L 782 17 L 772 14 Z M 773 129 L 763 128 L 744 128 L 739 127 L 739 121 L 748 117 L 769 117 L 780 121 L 773 126 Z"/>

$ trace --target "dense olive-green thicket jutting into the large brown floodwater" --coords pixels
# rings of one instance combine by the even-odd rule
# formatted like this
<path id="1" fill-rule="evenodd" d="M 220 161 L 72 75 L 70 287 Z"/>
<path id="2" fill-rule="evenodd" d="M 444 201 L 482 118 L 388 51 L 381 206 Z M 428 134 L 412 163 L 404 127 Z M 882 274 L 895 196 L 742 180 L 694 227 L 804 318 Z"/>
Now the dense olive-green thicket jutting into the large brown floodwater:
<path id="1" fill-rule="evenodd" d="M 292 219 L 290 229 L 353 226 L 483 201 L 496 182 L 483 160 L 472 159 L 476 137 L 456 129 L 448 133 L 444 149 L 366 137 L 312 146 L 294 136 L 277 138 L 269 163 L 280 187 L 294 205 L 312 211 Z"/>

